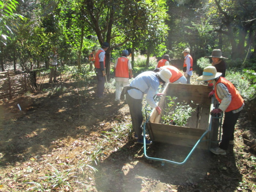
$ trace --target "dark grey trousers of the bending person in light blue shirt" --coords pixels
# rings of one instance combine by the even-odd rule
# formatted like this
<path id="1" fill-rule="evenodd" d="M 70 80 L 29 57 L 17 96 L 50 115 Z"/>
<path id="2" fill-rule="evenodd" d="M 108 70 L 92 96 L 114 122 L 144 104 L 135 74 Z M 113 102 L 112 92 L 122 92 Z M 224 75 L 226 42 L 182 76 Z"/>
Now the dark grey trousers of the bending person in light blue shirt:
<path id="1" fill-rule="evenodd" d="M 143 139 L 142 136 L 142 99 L 134 99 L 128 93 L 126 94 L 126 101 L 129 105 L 132 118 L 132 131 L 136 133 L 138 139 Z"/>

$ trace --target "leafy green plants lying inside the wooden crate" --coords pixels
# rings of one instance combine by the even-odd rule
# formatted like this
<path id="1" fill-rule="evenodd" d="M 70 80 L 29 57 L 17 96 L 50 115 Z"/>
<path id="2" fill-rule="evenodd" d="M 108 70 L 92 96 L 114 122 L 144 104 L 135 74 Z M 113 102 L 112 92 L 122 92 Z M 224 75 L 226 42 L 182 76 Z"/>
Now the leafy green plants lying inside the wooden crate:
<path id="1" fill-rule="evenodd" d="M 164 110 L 165 114 L 162 114 L 163 124 L 174 124 L 184 127 L 187 124 L 188 118 L 191 117 L 192 112 L 195 111 L 187 103 L 175 103 L 174 101 L 177 97 L 166 96 L 169 101 L 166 103 L 166 108 Z"/>

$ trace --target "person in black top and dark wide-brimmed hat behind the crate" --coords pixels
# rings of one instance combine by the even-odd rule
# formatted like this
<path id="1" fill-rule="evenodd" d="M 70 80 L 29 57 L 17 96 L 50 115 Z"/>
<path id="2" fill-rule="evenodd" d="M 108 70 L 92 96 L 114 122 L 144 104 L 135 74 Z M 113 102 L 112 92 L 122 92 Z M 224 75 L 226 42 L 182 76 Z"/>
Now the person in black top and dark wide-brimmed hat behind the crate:
<path id="1" fill-rule="evenodd" d="M 226 68 L 227 65 L 223 59 L 227 59 L 226 57 L 222 56 L 221 49 L 214 49 L 212 50 L 211 56 L 205 56 L 206 58 L 212 59 L 212 66 L 217 69 L 217 72 L 222 73 L 222 77 L 226 75 Z"/>

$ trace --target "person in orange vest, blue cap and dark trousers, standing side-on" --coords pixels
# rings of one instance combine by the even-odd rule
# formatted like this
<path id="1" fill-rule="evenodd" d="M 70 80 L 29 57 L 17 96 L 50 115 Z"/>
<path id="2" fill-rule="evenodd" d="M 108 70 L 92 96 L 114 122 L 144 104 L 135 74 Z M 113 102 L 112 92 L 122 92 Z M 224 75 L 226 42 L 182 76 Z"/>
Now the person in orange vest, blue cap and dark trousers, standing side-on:
<path id="1" fill-rule="evenodd" d="M 96 97 L 102 99 L 105 97 L 103 95 L 104 86 L 105 86 L 105 51 L 109 48 L 109 43 L 104 42 L 101 48 L 97 51 L 95 55 L 95 72 L 97 76 L 97 91 Z"/>

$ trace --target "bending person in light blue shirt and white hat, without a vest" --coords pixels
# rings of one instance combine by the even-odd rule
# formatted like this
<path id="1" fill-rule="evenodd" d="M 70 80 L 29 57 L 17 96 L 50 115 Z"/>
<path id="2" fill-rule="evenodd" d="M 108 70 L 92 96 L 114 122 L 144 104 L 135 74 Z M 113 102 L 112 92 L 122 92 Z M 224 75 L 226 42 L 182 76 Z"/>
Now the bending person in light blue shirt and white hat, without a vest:
<path id="1" fill-rule="evenodd" d="M 147 103 L 151 108 L 156 109 L 158 114 L 161 114 L 161 109 L 155 103 L 153 97 L 156 95 L 160 84 L 169 83 L 172 74 L 168 69 L 162 69 L 160 72 L 146 71 L 132 80 L 130 88 L 126 93 L 126 100 L 129 105 L 129 110 L 132 118 L 132 129 L 135 132 L 135 139 L 138 143 L 143 143 L 142 136 L 142 99 L 146 95 Z M 158 93 L 158 96 L 163 94 Z M 152 142 L 146 140 L 146 144 L 150 145 Z"/>

